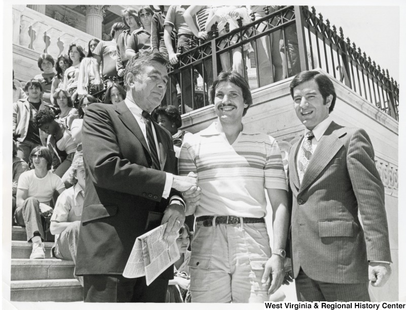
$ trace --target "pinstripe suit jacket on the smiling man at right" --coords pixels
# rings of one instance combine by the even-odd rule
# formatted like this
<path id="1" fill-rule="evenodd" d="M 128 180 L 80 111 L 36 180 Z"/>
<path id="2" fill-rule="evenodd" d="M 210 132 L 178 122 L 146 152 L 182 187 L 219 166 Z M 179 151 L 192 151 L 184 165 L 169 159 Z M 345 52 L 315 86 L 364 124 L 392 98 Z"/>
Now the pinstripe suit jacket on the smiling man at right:
<path id="1" fill-rule="evenodd" d="M 317 281 L 367 282 L 368 260 L 391 260 L 384 186 L 369 137 L 363 129 L 332 122 L 301 184 L 296 168 L 300 143 L 289 152 L 294 278 L 301 267 Z"/>

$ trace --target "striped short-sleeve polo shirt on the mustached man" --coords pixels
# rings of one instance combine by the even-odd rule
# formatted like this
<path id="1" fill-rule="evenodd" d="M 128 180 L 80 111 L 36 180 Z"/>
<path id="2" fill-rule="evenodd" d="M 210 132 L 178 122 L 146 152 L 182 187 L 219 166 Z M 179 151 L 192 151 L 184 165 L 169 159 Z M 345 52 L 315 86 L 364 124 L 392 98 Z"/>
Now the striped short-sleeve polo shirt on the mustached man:
<path id="1" fill-rule="evenodd" d="M 190 171 L 197 173 L 201 188 L 196 217 L 261 218 L 266 215 L 264 190 L 287 190 L 276 140 L 244 128 L 230 145 L 219 122 L 185 139 L 179 156 L 179 175 L 187 176 Z"/>

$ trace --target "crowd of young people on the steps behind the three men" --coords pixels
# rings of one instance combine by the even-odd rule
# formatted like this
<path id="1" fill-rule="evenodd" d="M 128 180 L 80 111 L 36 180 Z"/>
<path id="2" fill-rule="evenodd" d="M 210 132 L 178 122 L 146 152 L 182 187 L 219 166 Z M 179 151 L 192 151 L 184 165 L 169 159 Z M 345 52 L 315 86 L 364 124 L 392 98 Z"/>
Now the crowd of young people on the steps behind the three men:
<path id="1" fill-rule="evenodd" d="M 213 39 L 211 29 L 214 24 L 217 24 L 221 36 L 238 28 L 240 19 L 246 25 L 252 21 L 250 16 L 265 16 L 264 9 L 261 6 L 126 8 L 122 11 L 122 22 L 114 23 L 111 28 L 111 41 L 94 38 L 86 47 L 72 43 L 68 55 L 60 55 L 57 59 L 47 53 L 41 54 L 38 58 L 41 72 L 23 86 L 13 76 L 12 223 L 26 227 L 27 242 L 32 243 L 30 259 L 45 258 L 44 241 L 50 233 L 55 235 L 51 255 L 75 262 L 86 191 L 83 118 L 87 107 L 94 102 L 117 105 L 125 99 L 123 77 L 129 59 L 145 52 L 160 53 L 176 67 L 180 52 Z M 278 9 L 276 6 L 266 7 L 266 12 Z M 298 57 L 294 33 L 289 36 L 289 65 L 283 64 L 285 45 L 280 30 L 269 38 L 258 39 L 252 44 L 261 66 L 258 77 L 261 86 L 286 78 L 288 68 L 289 74 L 299 71 L 295 62 Z M 249 49 L 250 44 L 246 44 L 243 49 L 235 48 L 231 53 L 221 54 L 222 69 L 247 76 L 242 59 Z M 272 70 L 267 70 L 269 66 Z M 213 73 L 211 60 L 207 60 L 204 66 L 196 66 L 196 71 L 208 93 L 217 76 Z M 155 121 L 172 135 L 177 158 L 184 137 L 190 134 L 180 129 L 179 98 L 182 97 L 185 111 L 196 107 L 192 103 L 194 86 L 194 77 L 189 71 L 175 74 L 167 82 L 161 107 L 152 114 Z M 187 292 L 190 252 L 187 249 L 192 235 L 193 216 L 186 218 L 186 224 L 180 230 L 177 244 L 181 258 L 175 264 L 175 279 L 171 280 L 168 289 L 169 302 L 190 301 Z M 80 277 L 78 280 L 82 283 Z"/>

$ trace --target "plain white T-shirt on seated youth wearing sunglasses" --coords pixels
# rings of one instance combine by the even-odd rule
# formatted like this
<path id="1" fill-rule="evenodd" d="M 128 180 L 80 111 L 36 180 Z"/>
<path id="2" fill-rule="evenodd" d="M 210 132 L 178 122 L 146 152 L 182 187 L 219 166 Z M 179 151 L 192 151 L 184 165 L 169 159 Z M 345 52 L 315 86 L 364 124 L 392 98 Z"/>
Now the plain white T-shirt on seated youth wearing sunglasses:
<path id="1" fill-rule="evenodd" d="M 48 171 L 44 178 L 38 178 L 35 169 L 22 173 L 17 185 L 17 189 L 28 190 L 27 197 L 35 197 L 45 204 L 50 203 L 55 191 L 64 188 L 62 180 L 51 171 Z"/>

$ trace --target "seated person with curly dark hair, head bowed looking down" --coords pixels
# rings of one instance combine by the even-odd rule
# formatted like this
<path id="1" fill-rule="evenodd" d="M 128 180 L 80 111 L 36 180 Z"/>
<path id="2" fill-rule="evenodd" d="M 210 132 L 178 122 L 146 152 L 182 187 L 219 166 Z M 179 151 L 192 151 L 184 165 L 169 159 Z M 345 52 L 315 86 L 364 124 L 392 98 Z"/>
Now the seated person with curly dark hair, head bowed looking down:
<path id="1" fill-rule="evenodd" d="M 63 174 L 72 164 L 77 145 L 72 139 L 71 132 L 67 129 L 66 124 L 56 119 L 51 110 L 40 111 L 35 117 L 38 128 L 48 133 L 47 147 L 53 151 L 54 173 L 62 178 Z"/>

